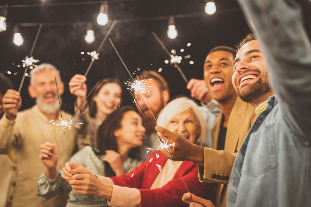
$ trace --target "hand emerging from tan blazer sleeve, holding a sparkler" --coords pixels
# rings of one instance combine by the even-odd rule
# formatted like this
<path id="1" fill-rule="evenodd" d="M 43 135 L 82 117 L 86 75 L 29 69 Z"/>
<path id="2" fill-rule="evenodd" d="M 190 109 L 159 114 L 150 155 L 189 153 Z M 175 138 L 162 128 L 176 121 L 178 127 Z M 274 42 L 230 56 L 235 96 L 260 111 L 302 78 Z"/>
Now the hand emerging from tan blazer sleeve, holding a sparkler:
<path id="1" fill-rule="evenodd" d="M 202 146 L 193 144 L 186 137 L 164 127 L 156 126 L 156 131 L 161 133 L 160 138 L 165 145 L 174 143 L 173 146 L 161 147 L 161 152 L 165 157 L 175 161 L 189 160 L 204 166 L 204 148 Z"/>

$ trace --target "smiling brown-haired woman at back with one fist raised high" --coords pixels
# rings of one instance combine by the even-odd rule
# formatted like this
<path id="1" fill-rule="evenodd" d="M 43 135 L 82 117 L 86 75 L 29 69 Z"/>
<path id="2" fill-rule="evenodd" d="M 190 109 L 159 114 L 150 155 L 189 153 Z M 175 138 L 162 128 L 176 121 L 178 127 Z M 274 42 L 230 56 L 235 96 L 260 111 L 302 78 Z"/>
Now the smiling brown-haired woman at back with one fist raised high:
<path id="1" fill-rule="evenodd" d="M 86 77 L 80 74 L 74 75 L 69 82 L 70 93 L 77 97 L 75 110 L 86 98 L 85 82 Z M 78 150 L 88 145 L 97 147 L 97 130 L 107 116 L 121 105 L 121 96 L 122 88 L 118 79 L 105 78 L 98 83 L 91 95 L 90 104 L 85 101 L 73 119 L 73 126 L 78 133 Z"/>

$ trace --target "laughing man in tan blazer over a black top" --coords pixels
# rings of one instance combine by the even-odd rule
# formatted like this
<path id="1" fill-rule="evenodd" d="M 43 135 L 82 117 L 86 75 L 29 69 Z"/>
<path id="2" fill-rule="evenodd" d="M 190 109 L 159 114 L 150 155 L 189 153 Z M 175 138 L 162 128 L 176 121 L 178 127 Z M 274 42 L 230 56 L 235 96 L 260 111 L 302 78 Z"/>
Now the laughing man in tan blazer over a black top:
<path id="1" fill-rule="evenodd" d="M 210 169 L 210 174 L 205 174 L 202 178 L 200 175 L 203 173 L 199 173 L 199 179 L 201 182 L 219 183 L 216 189 L 216 206 L 218 207 L 226 206 L 228 184 L 224 183 L 229 182 L 231 169 L 227 169 L 226 165 L 221 164 L 222 161 L 215 159 L 219 157 L 219 154 L 223 154 L 226 163 L 233 165 L 234 154 L 238 152 L 256 118 L 254 107 L 242 101 L 233 88 L 231 77 L 234 58 L 235 50 L 232 47 L 219 46 L 211 49 L 204 62 L 204 81 L 207 87 L 205 91 L 218 102 L 221 113 L 211 130 L 212 149 L 204 147 L 204 157 L 210 158 L 204 159 L 204 166 Z M 189 83 L 194 81 L 196 80 L 190 80 Z M 192 86 L 187 87 L 192 94 L 203 93 L 202 86 L 198 87 L 197 84 L 195 87 L 193 83 Z M 204 97 L 208 96 L 202 95 L 202 97 L 204 100 Z"/>

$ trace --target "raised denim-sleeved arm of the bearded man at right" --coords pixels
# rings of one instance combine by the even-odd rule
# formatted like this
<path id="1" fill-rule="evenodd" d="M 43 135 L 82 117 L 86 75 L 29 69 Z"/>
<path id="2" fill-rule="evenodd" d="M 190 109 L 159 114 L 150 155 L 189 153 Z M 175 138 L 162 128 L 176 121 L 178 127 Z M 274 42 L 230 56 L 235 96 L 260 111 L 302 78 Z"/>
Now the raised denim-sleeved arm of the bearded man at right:
<path id="1" fill-rule="evenodd" d="M 291 0 L 239 0 L 267 59 L 283 119 L 301 142 L 311 141 L 311 46 L 299 6 Z"/>

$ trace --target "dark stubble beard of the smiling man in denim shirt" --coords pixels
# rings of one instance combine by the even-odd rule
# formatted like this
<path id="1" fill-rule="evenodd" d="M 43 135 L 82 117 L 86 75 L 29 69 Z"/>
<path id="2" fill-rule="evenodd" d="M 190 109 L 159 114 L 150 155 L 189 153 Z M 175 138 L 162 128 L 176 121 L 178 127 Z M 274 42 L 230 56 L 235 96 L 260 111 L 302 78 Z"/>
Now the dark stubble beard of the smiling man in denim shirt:
<path id="1" fill-rule="evenodd" d="M 239 83 L 236 81 L 236 87 L 234 87 L 234 89 L 243 101 L 252 104 L 254 102 L 258 102 L 257 100 L 260 100 L 263 95 L 271 92 L 272 90 L 270 88 L 267 70 L 245 70 L 243 74 L 247 72 L 259 73 L 260 76 L 256 78 L 258 81 L 252 85 L 244 85 L 242 88 L 239 88 Z"/>

